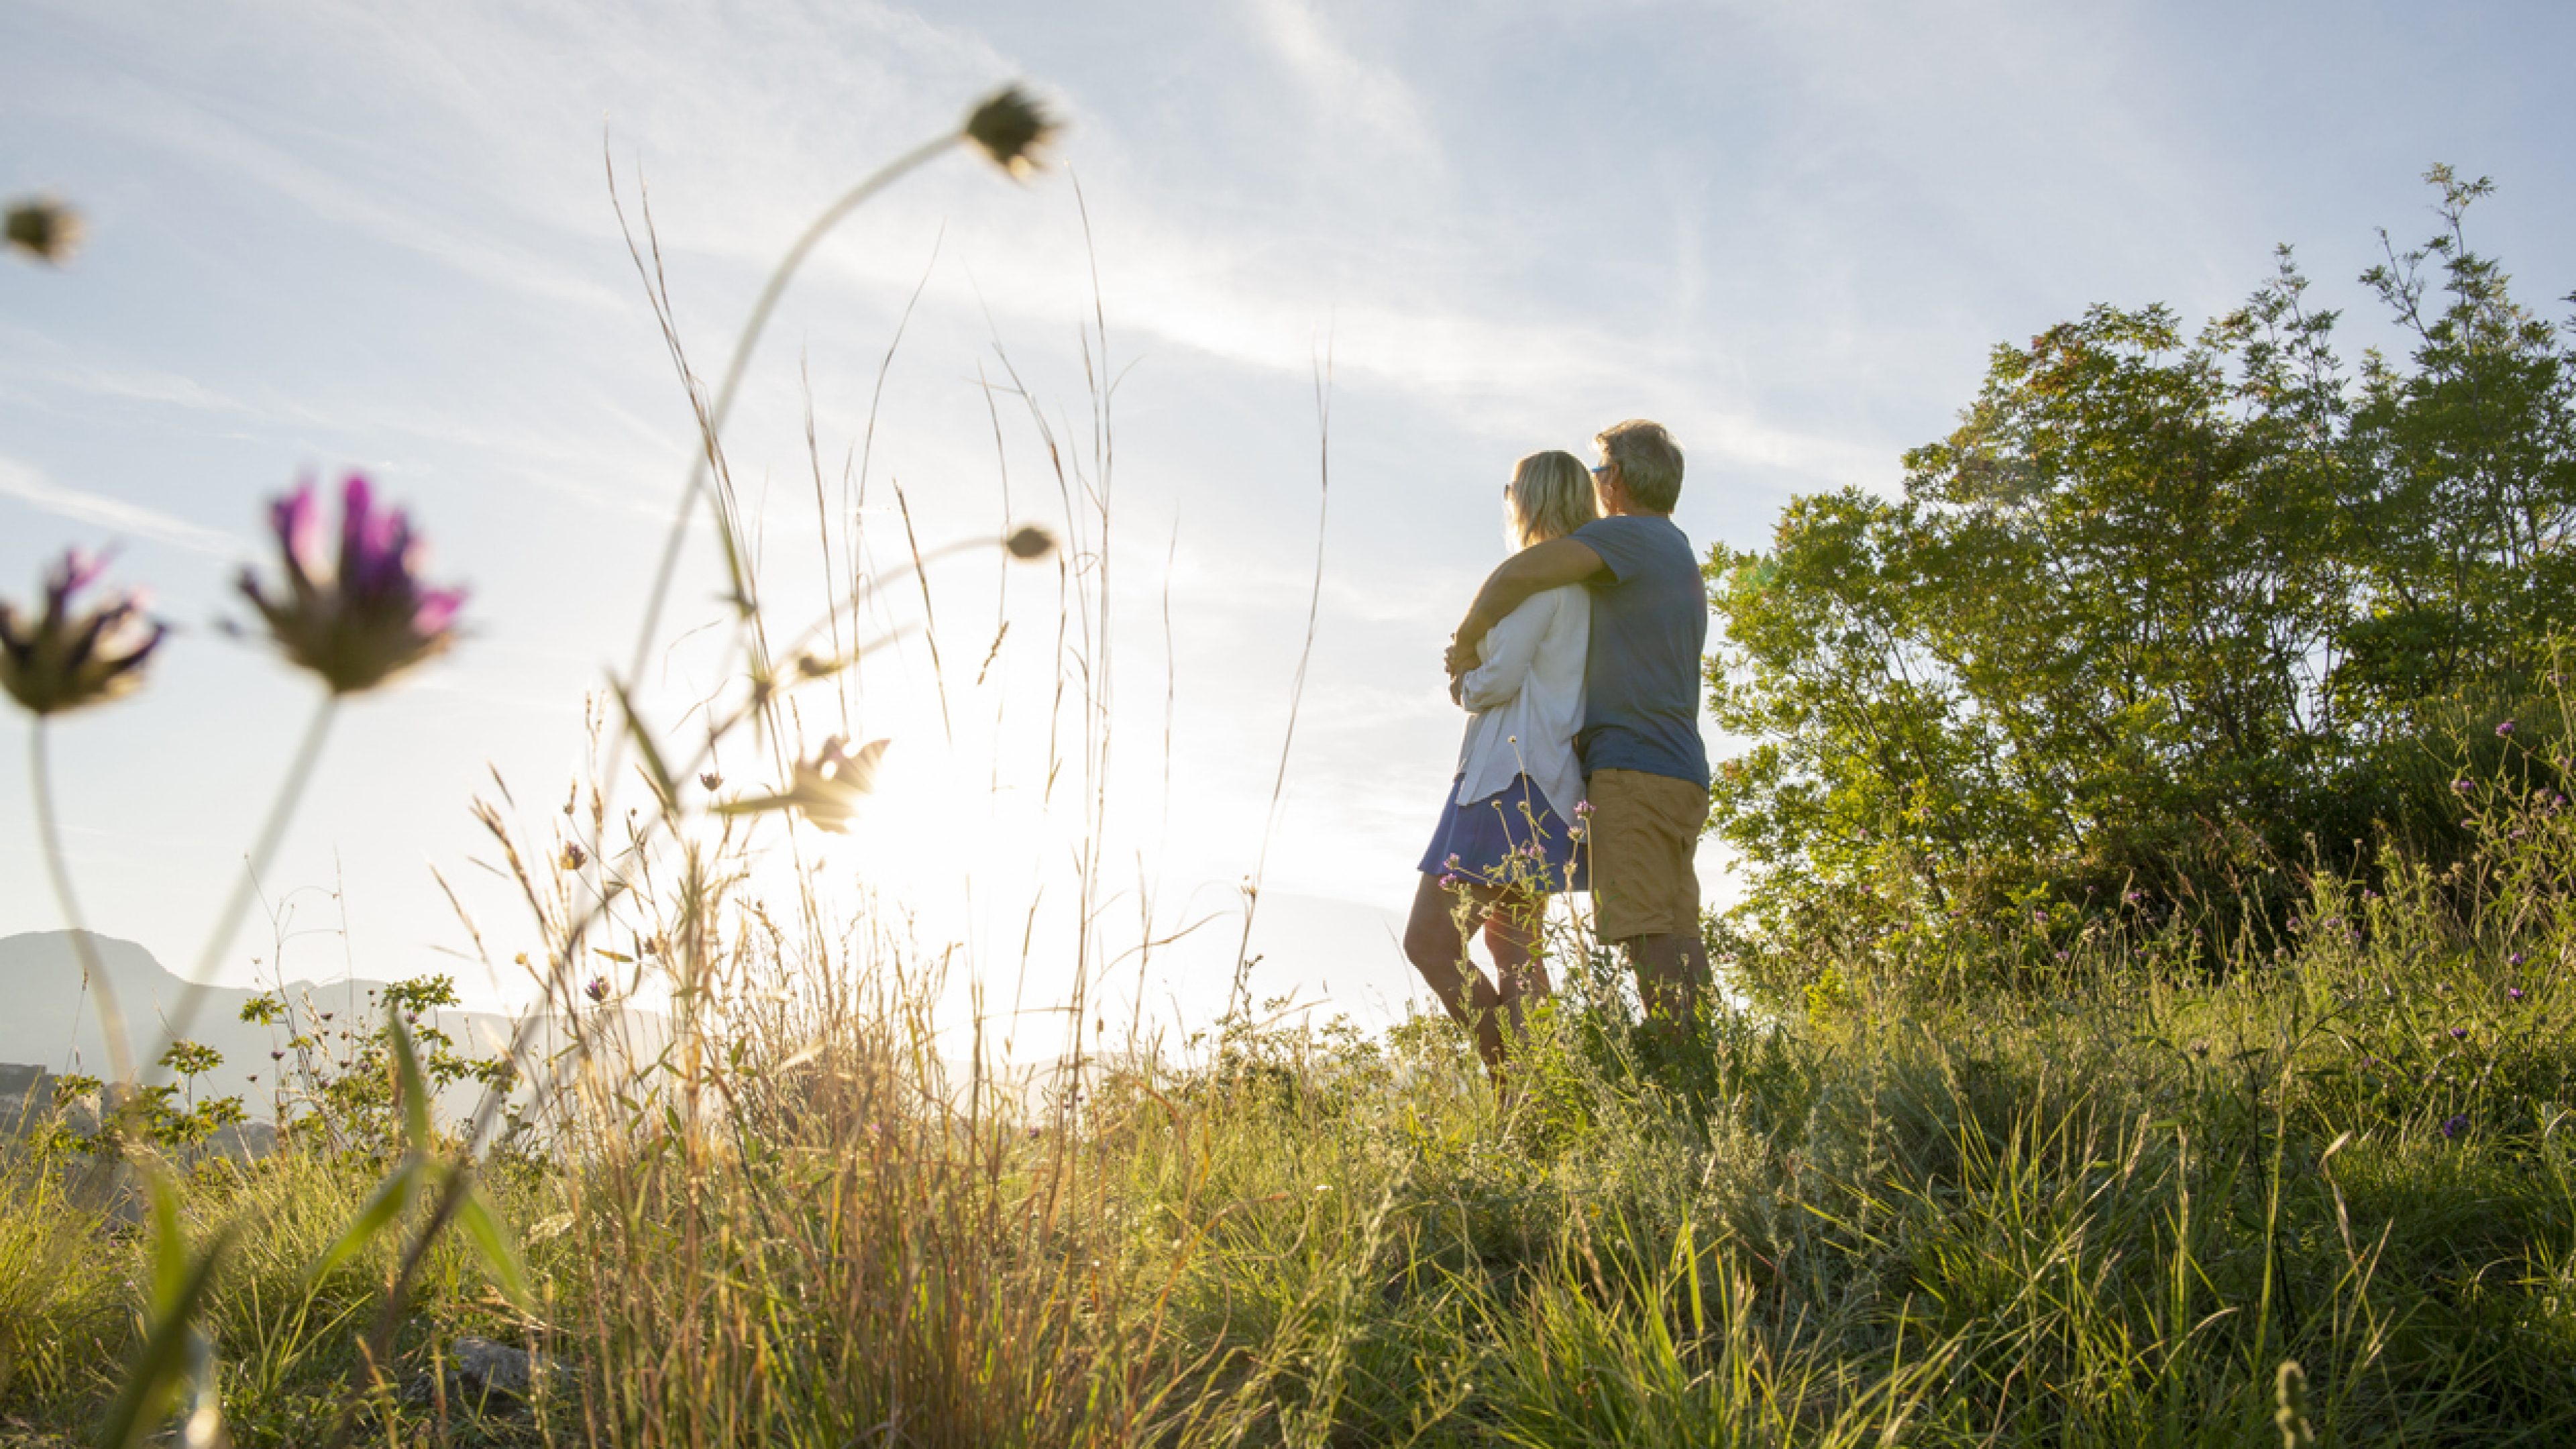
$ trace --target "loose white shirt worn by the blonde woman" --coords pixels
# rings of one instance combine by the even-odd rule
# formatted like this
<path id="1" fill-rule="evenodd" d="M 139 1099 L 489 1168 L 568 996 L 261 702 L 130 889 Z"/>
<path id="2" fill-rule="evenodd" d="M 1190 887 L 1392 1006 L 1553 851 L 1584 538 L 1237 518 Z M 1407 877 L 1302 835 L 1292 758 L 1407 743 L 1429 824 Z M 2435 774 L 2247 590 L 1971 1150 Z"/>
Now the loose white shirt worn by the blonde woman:
<path id="1" fill-rule="evenodd" d="M 1556 817 L 1574 822 L 1584 771 L 1574 732 L 1584 727 L 1584 652 L 1592 642 L 1592 593 L 1569 583 L 1533 593 L 1486 629 L 1461 704 L 1476 712 L 1458 745 L 1458 804 L 1502 794 L 1512 776 L 1530 776 Z"/>

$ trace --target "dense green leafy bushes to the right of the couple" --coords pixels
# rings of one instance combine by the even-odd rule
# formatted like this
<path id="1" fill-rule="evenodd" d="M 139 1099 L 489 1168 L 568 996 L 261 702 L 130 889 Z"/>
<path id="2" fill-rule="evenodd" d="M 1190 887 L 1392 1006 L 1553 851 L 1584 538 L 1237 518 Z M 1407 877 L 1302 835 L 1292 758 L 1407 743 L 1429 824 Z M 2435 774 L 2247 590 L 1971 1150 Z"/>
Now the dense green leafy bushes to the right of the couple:
<path id="1" fill-rule="evenodd" d="M 2365 281 L 2411 358 L 2334 353 L 2280 273 L 2184 335 L 2094 307 L 1996 348 L 1901 498 L 1716 549 L 1716 830 L 1772 944 L 2066 902 L 2287 908 L 2277 864 L 2455 851 L 2445 784 L 2576 629 L 2576 353 L 2445 235 Z M 2427 258 L 2439 260 L 2439 315 Z"/>

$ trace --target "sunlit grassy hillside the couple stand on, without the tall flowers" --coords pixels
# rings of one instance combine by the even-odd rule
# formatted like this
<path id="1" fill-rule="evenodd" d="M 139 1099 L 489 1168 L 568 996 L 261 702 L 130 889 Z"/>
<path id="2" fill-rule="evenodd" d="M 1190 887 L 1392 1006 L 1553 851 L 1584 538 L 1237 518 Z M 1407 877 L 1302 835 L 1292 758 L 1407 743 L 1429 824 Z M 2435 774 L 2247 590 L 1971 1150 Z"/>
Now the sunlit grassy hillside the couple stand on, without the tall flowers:
<path id="1" fill-rule="evenodd" d="M 2045 926 L 1981 923 L 1649 1060 L 1561 957 L 1510 1101 L 1430 1018 L 1236 1018 L 1020 1098 L 940 1065 L 902 962 L 752 936 L 796 1000 L 495 1155 L 533 1299 L 440 1240 L 381 1374 L 399 1240 L 309 1269 L 384 1134 L 196 1168 L 193 1238 L 255 1225 L 204 1299 L 224 1418 L 309 1444 L 355 1382 L 374 1444 L 2563 1441 L 2576 931 L 2535 902 L 2576 822 L 2491 804 L 2465 869 L 2316 879 L 2221 980 L 2174 918 L 2032 990 Z M 8 1168 L 31 1441 L 139 1346 L 144 1235 L 75 1178 Z M 556 1369 L 469 1403 L 456 1336 Z"/>

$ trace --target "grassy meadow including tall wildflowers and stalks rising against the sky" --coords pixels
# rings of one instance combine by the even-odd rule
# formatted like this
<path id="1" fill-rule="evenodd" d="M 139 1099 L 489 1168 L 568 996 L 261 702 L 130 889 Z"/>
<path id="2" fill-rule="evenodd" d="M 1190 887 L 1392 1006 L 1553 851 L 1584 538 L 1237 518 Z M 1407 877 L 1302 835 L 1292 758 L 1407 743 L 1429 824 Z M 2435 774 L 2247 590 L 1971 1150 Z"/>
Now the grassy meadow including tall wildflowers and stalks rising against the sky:
<path id="1" fill-rule="evenodd" d="M 750 897 L 762 830 L 850 828 L 873 753 L 809 750 L 786 709 L 848 681 L 860 598 L 827 601 L 829 650 L 822 624 L 765 621 L 721 446 L 742 358 L 796 260 L 896 170 L 961 142 L 1025 160 L 1048 126 L 1002 101 L 827 211 L 714 389 L 639 240 L 703 449 L 636 665 L 603 696 L 587 807 L 533 825 L 479 807 L 528 923 L 477 949 L 533 962 L 572 1044 L 461 1057 L 417 1021 L 440 982 L 337 1036 L 278 1000 L 296 1088 L 273 1155 L 191 1147 L 196 1104 L 167 1096 L 13 1147 L 8 1436 L 131 1444 L 173 1418 L 183 1444 L 817 1449 L 2576 1436 L 2576 812 L 2512 761 L 2442 792 L 2439 851 L 2257 851 L 2226 887 L 2102 908 L 1899 910 L 1891 884 L 1865 928 L 1710 923 L 1731 990 L 1680 1044 L 1638 1029 L 1618 962 L 1569 920 L 1558 1000 L 1504 1093 L 1445 1018 L 1363 1034 L 1249 1000 L 1157 1047 L 1084 1031 L 1077 998 L 1064 1057 L 1015 1078 L 935 1018 L 940 964 L 904 933 L 811 890 L 778 913 Z M 1030 400 L 1064 516 L 994 539 L 1059 572 L 1061 763 L 1084 799 L 1108 712 L 1074 665 L 1108 655 L 1084 593 L 1105 565 L 1064 559 L 1108 557 L 1092 405 L 1082 462 Z M 698 505 L 737 663 L 703 730 L 755 737 L 788 781 L 770 797 L 726 794 L 623 686 Z M 317 508 L 278 503 L 291 588 L 252 590 L 327 688 L 299 771 L 332 701 L 443 650 L 456 614 L 363 487 L 335 562 Z M 912 549 L 912 570 L 935 557 Z M 95 570 L 59 578 L 57 634 Z M 93 655 L 139 621 L 103 608 L 72 645 L 10 655 L 46 838 L 44 730 L 131 686 L 157 642 Z M 1079 874 L 1090 923 L 1105 871 Z M 62 897 L 77 923 L 67 879 Z M 670 990 L 667 1044 L 580 1029 L 641 977 Z M 433 1083 L 469 1078 L 495 1085 L 477 1114 L 430 1111 Z M 523 1348 L 528 1372 L 495 1390 L 459 1372 L 487 1354 L 469 1343 Z"/>

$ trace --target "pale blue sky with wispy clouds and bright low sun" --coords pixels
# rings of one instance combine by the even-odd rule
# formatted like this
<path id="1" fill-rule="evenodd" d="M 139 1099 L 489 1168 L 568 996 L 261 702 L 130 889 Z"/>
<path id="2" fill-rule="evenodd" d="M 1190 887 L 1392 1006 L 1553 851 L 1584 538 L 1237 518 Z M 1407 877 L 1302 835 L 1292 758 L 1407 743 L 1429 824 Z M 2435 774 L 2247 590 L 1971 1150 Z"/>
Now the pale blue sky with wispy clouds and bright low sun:
<path id="1" fill-rule="evenodd" d="M 835 578 L 817 513 L 866 572 L 904 562 L 904 513 L 925 549 L 1061 531 L 1043 420 L 1069 490 L 1110 498 L 1074 575 L 1103 601 L 1108 766 L 1046 781 L 1048 724 L 1079 717 L 1054 706 L 1054 565 L 966 552 L 930 567 L 930 634 L 811 701 L 806 748 L 848 706 L 899 784 L 796 869 L 1046 1003 L 1074 967 L 1023 938 L 1072 928 L 1079 802 L 1105 799 L 1095 897 L 1126 936 L 1095 972 L 1203 1021 L 1257 874 L 1255 993 L 1383 1021 L 1461 730 L 1437 657 L 1502 554 L 1512 459 L 1656 418 L 1690 459 L 1677 523 L 1759 549 L 1793 495 L 1896 490 L 1996 343 L 2097 302 L 2208 317 L 2293 242 L 2349 345 L 2391 340 L 2354 276 L 2380 227 L 2429 232 L 2432 162 L 2496 178 L 2473 242 L 2543 304 L 2576 286 L 2566 54 L 2576 10 L 2545 0 L 15 0 L 0 193 L 57 191 L 90 245 L 0 266 L 0 593 L 113 544 L 183 627 L 147 691 L 57 730 L 88 913 L 196 959 L 312 712 L 216 629 L 245 614 L 229 580 L 268 498 L 363 469 L 471 588 L 469 634 L 335 722 L 263 879 L 283 915 L 216 977 L 327 926 L 291 972 L 510 998 L 453 957 L 438 879 L 526 938 L 469 802 L 507 789 L 554 828 L 693 449 L 611 168 L 716 374 L 770 263 L 871 168 L 1010 80 L 1069 121 L 1025 186 L 953 152 L 842 224 L 724 443 L 762 596 L 806 619 Z M 1005 371 L 1028 400 L 989 389 Z M 701 513 L 649 719 L 724 686 L 719 585 Z M 876 627 L 917 621 L 902 588 Z M 23 779 L 0 771 L 0 933 L 59 923 Z M 1115 944 L 1193 920 L 1159 957 Z"/>

